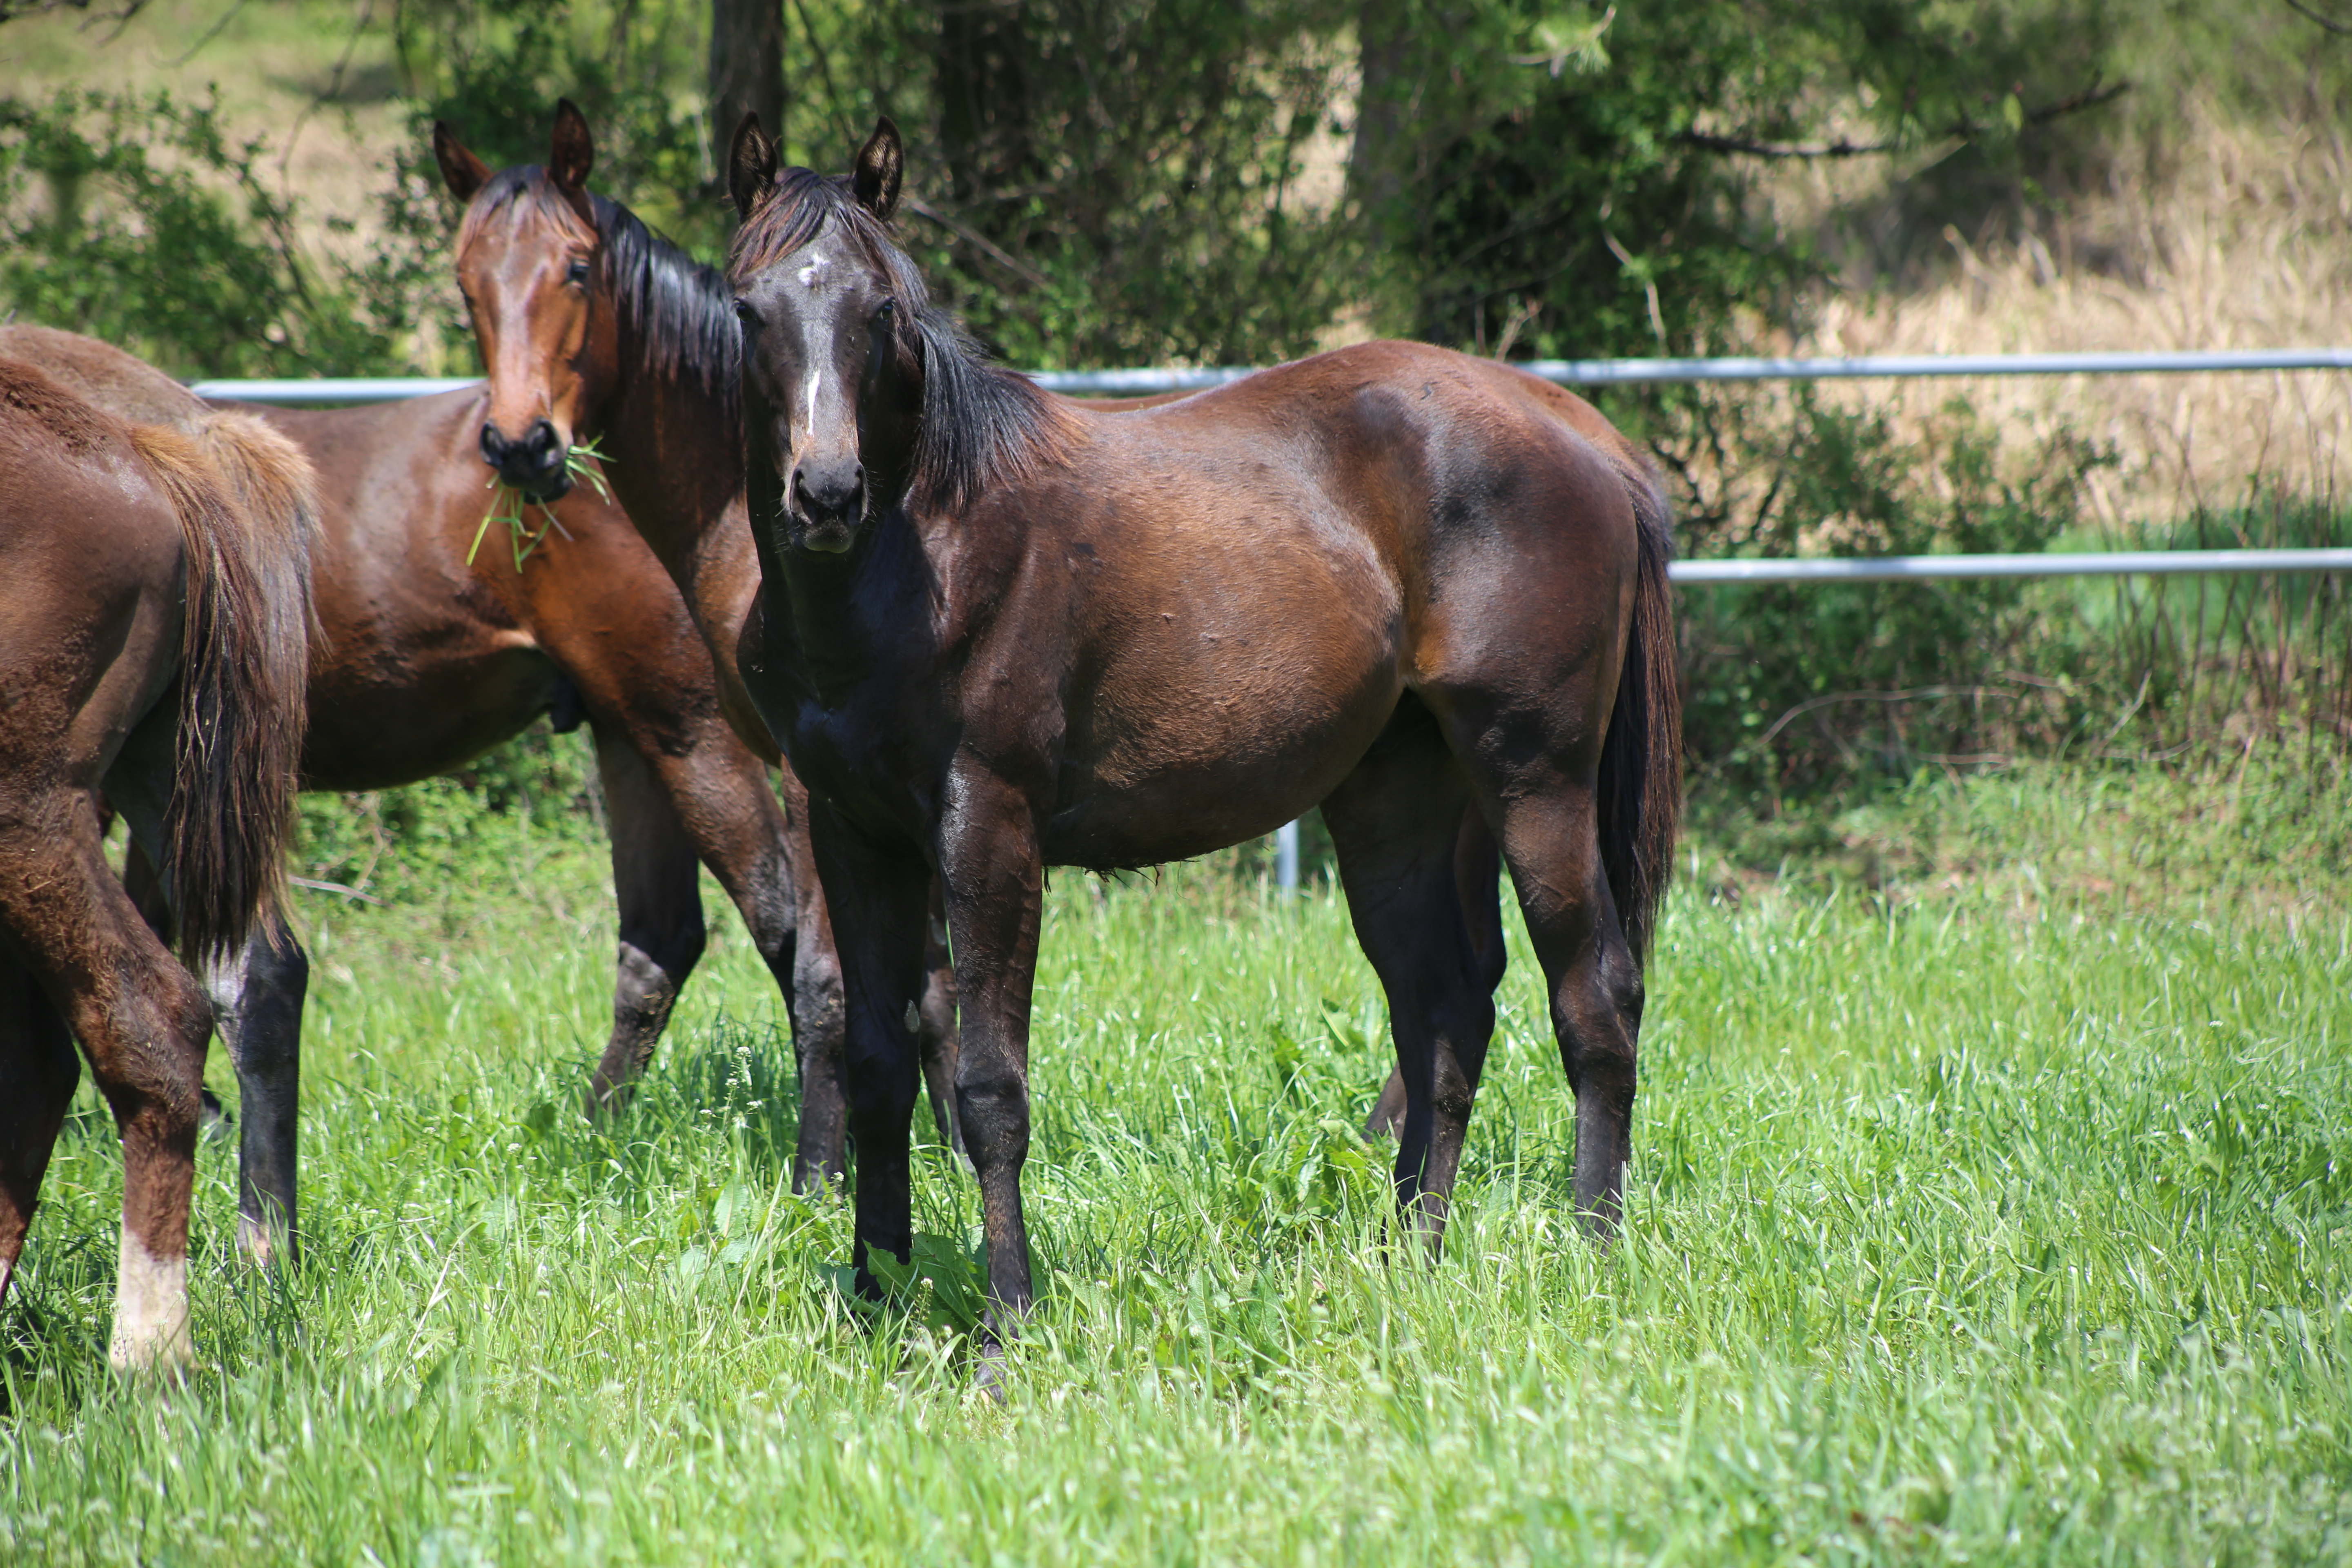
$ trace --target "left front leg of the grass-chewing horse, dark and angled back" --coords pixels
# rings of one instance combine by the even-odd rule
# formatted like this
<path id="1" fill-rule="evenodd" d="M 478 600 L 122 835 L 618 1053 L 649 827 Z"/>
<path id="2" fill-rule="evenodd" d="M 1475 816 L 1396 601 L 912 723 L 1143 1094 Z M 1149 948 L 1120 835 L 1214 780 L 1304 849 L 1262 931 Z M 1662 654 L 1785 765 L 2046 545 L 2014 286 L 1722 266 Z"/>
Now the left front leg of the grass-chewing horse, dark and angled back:
<path id="1" fill-rule="evenodd" d="M 654 769 L 612 729 L 593 729 L 612 813 L 612 886 L 621 900 L 612 1041 L 588 1081 L 588 1114 L 600 1114 L 628 1103 L 703 957 L 703 896 L 694 839 Z"/>

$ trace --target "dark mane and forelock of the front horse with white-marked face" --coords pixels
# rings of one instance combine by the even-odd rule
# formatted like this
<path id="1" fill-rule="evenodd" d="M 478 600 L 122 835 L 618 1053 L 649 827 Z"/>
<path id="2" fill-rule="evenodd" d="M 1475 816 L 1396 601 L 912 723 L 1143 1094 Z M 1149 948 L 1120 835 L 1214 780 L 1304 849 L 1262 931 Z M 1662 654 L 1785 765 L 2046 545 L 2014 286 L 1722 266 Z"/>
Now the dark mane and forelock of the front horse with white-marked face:
<path id="1" fill-rule="evenodd" d="M 964 324 L 931 303 L 915 261 L 851 195 L 849 179 L 779 169 L 769 197 L 743 219 L 727 277 L 741 287 L 833 228 L 891 280 L 898 301 L 891 348 L 922 378 L 910 496 L 924 510 L 962 510 L 1000 484 L 1021 484 L 1058 463 L 1068 416 L 1035 381 L 993 364 Z"/>

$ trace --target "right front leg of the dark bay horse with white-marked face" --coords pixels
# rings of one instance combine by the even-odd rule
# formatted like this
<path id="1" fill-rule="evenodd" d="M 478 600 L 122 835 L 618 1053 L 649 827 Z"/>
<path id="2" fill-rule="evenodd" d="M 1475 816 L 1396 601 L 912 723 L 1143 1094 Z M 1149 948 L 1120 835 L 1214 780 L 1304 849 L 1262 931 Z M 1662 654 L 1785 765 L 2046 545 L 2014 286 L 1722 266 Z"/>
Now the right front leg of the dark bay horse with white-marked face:
<path id="1" fill-rule="evenodd" d="M 988 1328 L 1002 1342 L 1030 1309 L 1021 1164 L 1028 1159 L 1028 1023 L 1044 856 L 1030 797 L 1004 778 L 960 769 L 948 799 L 938 870 L 960 1013 L 955 1114 L 981 1178 Z"/>

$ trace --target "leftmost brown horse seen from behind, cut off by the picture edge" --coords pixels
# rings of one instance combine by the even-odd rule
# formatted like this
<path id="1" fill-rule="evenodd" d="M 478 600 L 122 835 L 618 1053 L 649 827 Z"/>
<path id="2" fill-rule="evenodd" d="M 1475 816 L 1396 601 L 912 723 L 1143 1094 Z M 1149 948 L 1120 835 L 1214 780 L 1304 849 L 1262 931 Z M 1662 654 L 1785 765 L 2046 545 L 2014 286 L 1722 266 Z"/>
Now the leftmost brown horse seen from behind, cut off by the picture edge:
<path id="1" fill-rule="evenodd" d="M 118 1368 L 193 1354 L 212 1009 L 108 870 L 99 797 L 214 961 L 275 919 L 303 736 L 308 465 L 179 400 L 132 423 L 0 360 L 0 1293 L 78 1037 L 122 1133 Z"/>

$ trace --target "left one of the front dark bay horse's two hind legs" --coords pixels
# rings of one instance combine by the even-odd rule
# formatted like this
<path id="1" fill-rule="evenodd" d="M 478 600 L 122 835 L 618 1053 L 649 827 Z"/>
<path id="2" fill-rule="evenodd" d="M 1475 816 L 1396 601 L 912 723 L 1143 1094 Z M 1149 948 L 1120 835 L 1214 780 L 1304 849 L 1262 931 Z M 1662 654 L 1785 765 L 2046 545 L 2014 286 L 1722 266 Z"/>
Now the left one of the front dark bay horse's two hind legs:
<path id="1" fill-rule="evenodd" d="M 1501 976 L 1472 936 L 1494 898 L 1472 898 L 1465 910 L 1456 875 L 1468 811 L 1468 780 L 1430 724 L 1409 726 L 1402 743 L 1367 757 L 1324 802 L 1348 912 L 1388 992 L 1397 1044 L 1397 1204 L 1432 1246 L 1461 1171 Z"/>

